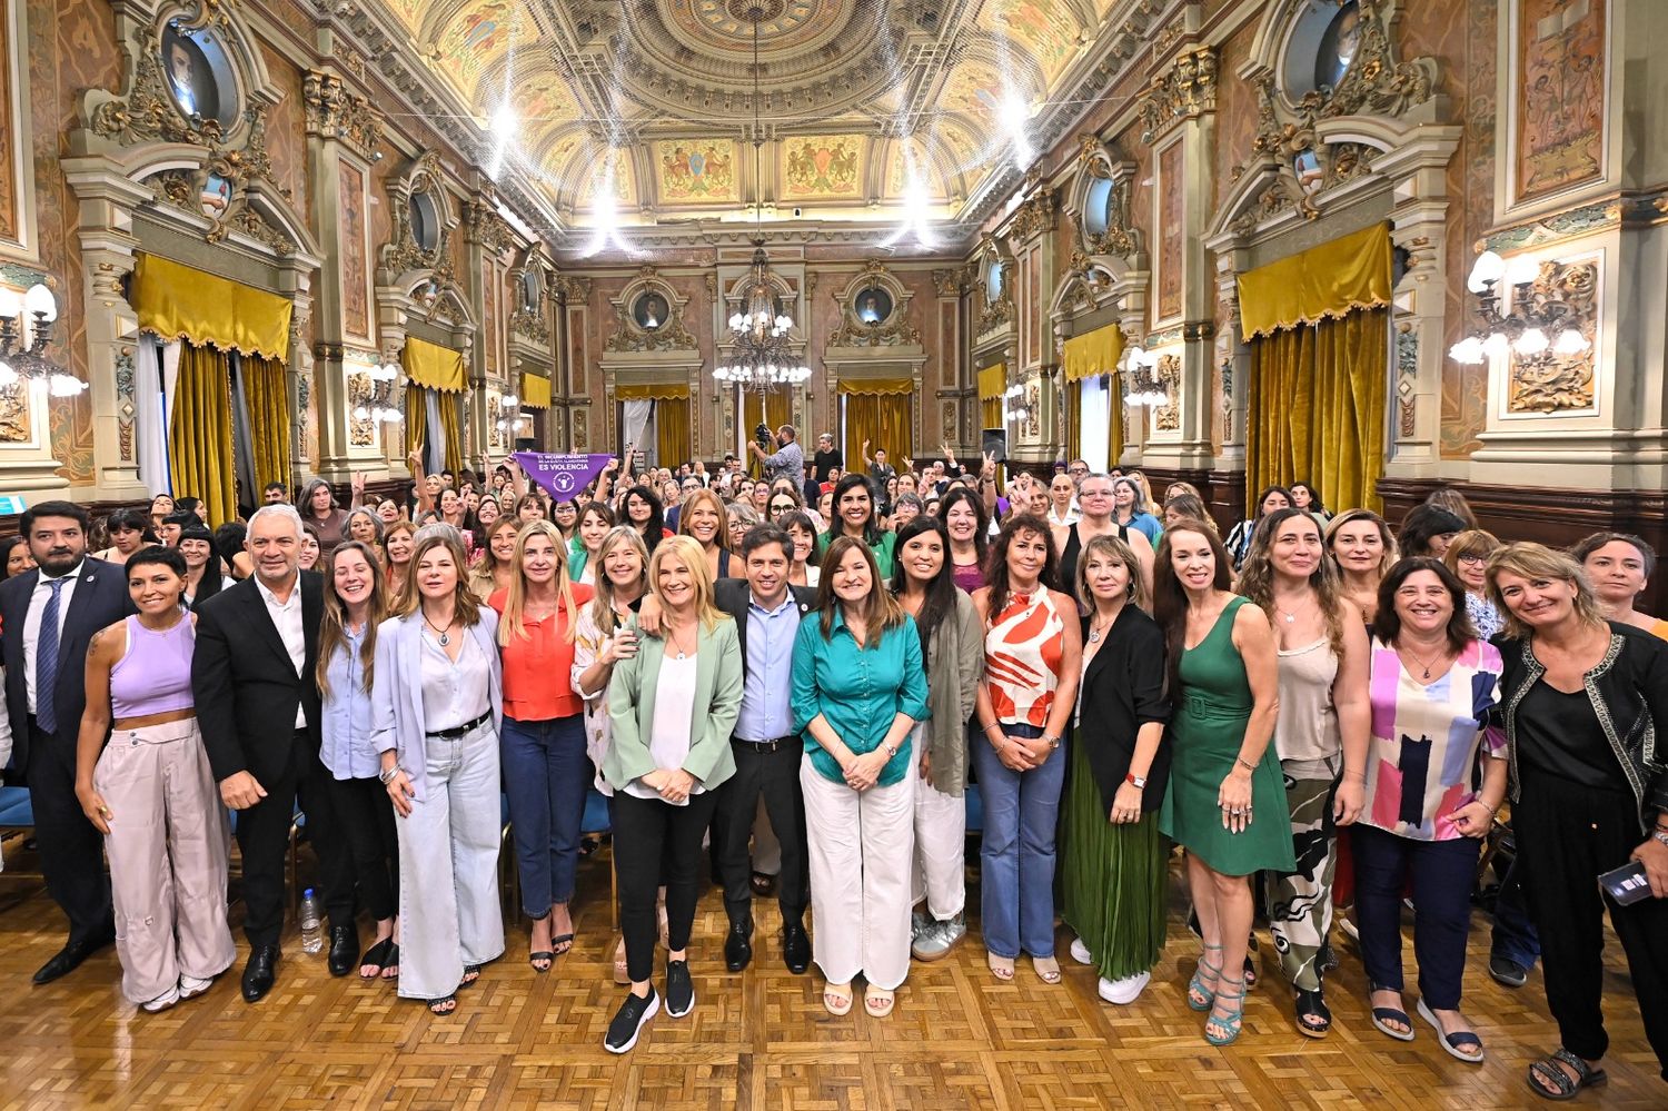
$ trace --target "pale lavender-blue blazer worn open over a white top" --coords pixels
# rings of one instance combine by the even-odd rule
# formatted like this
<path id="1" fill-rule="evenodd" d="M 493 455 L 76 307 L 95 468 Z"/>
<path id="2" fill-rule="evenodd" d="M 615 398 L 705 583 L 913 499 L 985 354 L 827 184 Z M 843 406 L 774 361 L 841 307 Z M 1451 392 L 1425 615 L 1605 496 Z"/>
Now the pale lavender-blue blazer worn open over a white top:
<path id="1" fill-rule="evenodd" d="M 504 662 L 499 657 L 499 616 L 480 607 L 480 621 L 465 636 L 487 656 L 487 706 L 492 727 L 504 724 Z M 412 792 L 422 799 L 429 791 L 429 761 L 422 709 L 422 614 L 389 617 L 377 626 L 377 676 L 370 684 L 370 746 L 377 752 L 392 749 L 412 781 Z"/>

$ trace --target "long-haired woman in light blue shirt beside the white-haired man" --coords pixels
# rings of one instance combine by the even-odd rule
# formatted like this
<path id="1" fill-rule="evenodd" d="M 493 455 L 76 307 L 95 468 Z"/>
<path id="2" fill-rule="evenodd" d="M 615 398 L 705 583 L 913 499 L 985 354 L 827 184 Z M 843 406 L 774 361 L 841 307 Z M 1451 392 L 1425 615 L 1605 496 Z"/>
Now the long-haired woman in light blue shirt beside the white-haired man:
<path id="1" fill-rule="evenodd" d="M 319 761 L 330 772 L 327 789 L 352 864 L 350 887 L 377 936 L 359 961 L 360 979 L 394 981 L 400 974 L 395 936 L 400 846 L 394 807 L 377 777 L 372 687 L 377 627 L 389 617 L 389 594 L 375 549 L 342 540 L 330 552 L 324 579 L 324 617 L 319 622 L 319 682 L 322 744 Z M 345 896 L 354 897 L 354 892 Z"/>

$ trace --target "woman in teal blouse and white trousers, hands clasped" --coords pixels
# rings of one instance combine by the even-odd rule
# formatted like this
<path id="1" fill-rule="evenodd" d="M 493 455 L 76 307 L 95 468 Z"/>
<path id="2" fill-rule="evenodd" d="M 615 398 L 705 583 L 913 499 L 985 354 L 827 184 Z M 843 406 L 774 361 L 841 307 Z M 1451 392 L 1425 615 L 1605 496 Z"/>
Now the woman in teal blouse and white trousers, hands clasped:
<path id="1" fill-rule="evenodd" d="M 869 545 L 836 537 L 822 561 L 817 609 L 806 614 L 794 642 L 812 956 L 827 978 L 822 1006 L 831 1014 L 851 1011 L 851 981 L 862 973 L 864 1009 L 886 1018 L 909 974 L 916 764 L 909 732 L 926 717 L 916 622 L 881 582 Z"/>

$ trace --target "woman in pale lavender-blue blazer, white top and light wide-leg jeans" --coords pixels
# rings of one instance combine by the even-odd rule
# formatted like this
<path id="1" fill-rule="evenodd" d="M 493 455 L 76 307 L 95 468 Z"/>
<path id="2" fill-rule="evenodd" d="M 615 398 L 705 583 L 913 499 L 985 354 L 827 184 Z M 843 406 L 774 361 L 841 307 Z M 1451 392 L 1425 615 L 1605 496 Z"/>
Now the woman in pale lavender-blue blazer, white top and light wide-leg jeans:
<path id="1" fill-rule="evenodd" d="M 504 956 L 499 911 L 497 616 L 469 591 L 450 525 L 417 534 L 410 584 L 377 627 L 380 779 L 399 814 L 400 996 L 435 1014 Z M 565 679 L 565 676 L 564 676 Z"/>

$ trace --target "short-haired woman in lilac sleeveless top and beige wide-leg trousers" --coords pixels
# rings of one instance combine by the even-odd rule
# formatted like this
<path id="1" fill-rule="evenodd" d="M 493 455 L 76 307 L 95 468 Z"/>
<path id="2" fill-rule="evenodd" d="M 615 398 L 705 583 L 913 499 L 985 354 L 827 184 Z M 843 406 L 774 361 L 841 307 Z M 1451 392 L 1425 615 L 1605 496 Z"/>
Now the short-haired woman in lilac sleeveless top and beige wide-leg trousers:
<path id="1" fill-rule="evenodd" d="M 232 831 L 197 729 L 185 557 L 142 547 L 127 592 L 138 614 L 87 649 L 75 797 L 110 854 L 122 994 L 153 1013 L 208 991 L 232 964 Z"/>

